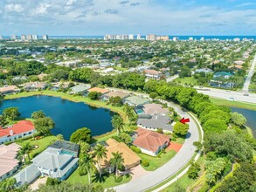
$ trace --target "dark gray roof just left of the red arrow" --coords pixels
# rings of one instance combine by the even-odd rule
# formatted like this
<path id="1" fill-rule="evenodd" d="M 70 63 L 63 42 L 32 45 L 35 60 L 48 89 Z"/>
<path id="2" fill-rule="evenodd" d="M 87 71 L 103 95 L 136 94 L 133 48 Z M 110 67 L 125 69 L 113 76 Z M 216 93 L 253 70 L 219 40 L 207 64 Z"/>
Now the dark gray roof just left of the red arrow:
<path id="1" fill-rule="evenodd" d="M 153 115 L 151 118 L 139 117 L 138 126 L 146 128 L 163 128 L 164 130 L 173 131 L 172 125 L 170 125 L 171 119 L 164 115 Z"/>

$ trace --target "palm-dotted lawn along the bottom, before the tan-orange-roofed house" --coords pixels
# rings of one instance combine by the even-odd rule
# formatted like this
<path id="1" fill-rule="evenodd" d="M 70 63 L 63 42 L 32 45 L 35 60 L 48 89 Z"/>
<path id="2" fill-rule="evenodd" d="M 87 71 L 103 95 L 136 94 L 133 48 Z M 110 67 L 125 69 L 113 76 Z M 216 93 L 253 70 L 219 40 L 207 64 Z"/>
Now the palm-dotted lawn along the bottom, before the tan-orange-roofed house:
<path id="1" fill-rule="evenodd" d="M 116 185 L 121 185 L 122 183 L 126 183 L 126 182 L 129 182 L 131 179 L 132 179 L 132 176 L 129 176 L 127 177 L 126 175 L 123 176 L 122 178 L 122 181 L 121 182 L 114 182 L 114 177 L 113 175 L 110 175 L 110 176 L 105 176 L 104 179 L 105 179 L 105 182 L 95 182 L 93 181 L 93 175 L 92 175 L 92 182 L 94 184 L 100 184 L 104 189 L 107 189 L 107 188 L 112 188 Z M 83 176 L 80 176 L 79 175 L 79 169 L 77 168 L 72 175 L 70 175 L 70 177 L 67 178 L 66 180 L 67 182 L 70 182 L 70 183 L 88 183 L 88 175 L 83 175 Z"/>

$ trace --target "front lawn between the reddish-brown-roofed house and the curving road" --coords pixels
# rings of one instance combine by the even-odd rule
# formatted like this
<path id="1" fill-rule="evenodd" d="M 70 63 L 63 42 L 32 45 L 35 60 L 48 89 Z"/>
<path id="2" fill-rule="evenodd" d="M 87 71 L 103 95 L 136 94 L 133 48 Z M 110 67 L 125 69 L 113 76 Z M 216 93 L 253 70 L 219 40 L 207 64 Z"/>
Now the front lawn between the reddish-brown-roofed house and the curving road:
<path id="1" fill-rule="evenodd" d="M 138 154 L 142 160 L 149 161 L 149 167 L 144 167 L 147 171 L 154 171 L 156 168 L 162 167 L 166 162 L 170 161 L 176 154 L 176 151 L 170 150 L 169 152 L 163 152 L 158 156 L 150 156 L 148 154 Z"/>

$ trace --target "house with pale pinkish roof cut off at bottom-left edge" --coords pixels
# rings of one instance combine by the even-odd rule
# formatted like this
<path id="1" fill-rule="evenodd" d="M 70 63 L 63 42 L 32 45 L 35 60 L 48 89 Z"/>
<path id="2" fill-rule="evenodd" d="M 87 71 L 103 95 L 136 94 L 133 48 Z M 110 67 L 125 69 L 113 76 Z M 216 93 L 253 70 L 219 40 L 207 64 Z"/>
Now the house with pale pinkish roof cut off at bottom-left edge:
<path id="1" fill-rule="evenodd" d="M 20 146 L 11 143 L 8 146 L 0 145 L 0 182 L 13 175 L 19 168 L 17 152 Z"/>

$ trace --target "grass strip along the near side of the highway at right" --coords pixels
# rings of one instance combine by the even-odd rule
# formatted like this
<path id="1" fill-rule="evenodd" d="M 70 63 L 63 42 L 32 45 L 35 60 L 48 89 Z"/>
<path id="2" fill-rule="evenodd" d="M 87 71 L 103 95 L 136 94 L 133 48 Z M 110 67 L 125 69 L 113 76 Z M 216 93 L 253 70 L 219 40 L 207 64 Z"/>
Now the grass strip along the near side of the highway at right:
<path id="1" fill-rule="evenodd" d="M 252 103 L 244 103 L 244 102 L 232 101 L 227 99 L 216 99 L 216 98 L 210 98 L 210 99 L 212 103 L 218 106 L 235 106 L 238 108 L 245 108 L 245 109 L 256 111 L 256 105 Z"/>

